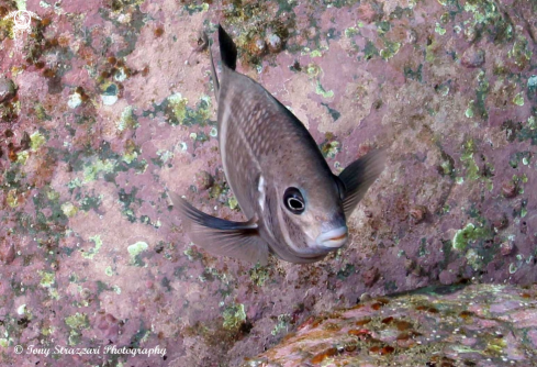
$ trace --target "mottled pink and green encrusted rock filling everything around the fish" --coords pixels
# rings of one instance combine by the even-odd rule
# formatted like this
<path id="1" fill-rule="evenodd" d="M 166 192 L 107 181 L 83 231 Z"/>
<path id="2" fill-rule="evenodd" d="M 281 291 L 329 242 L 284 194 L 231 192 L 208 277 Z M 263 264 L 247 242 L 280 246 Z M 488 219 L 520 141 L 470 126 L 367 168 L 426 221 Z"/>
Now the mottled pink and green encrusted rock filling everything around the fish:
<path id="1" fill-rule="evenodd" d="M 211 256 L 168 208 L 245 220 L 219 22 L 334 173 L 389 146 L 320 263 Z M 536 40 L 535 0 L 0 0 L 0 364 L 537 365 Z"/>

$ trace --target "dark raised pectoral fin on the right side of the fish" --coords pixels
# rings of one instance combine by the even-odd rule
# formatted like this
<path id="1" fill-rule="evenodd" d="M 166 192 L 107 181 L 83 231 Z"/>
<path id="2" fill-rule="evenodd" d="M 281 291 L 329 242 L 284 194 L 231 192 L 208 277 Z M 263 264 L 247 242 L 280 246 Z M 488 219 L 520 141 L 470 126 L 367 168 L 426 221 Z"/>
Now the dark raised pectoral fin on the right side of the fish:
<path id="1" fill-rule="evenodd" d="M 343 209 L 345 216 L 349 218 L 366 191 L 384 169 L 385 151 L 378 149 L 368 153 L 358 160 L 353 162 L 339 174 L 345 186 Z"/>

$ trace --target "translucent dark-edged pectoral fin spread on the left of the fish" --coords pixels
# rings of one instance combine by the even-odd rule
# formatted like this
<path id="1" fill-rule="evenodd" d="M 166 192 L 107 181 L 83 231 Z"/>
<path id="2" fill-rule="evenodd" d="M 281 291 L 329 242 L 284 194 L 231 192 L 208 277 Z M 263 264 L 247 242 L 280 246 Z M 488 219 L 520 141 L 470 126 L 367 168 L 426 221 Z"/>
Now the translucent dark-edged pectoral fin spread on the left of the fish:
<path id="1" fill-rule="evenodd" d="M 257 221 L 232 222 L 205 214 L 177 193 L 168 192 L 182 225 L 194 244 L 215 255 L 268 264 L 268 246 L 259 236 Z"/>

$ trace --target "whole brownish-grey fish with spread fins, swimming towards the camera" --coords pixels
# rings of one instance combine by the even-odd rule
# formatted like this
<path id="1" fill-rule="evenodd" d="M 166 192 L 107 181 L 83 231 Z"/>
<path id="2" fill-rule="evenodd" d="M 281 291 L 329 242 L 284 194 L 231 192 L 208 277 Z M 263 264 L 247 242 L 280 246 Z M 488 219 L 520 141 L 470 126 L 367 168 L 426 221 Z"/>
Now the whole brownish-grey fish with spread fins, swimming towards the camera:
<path id="1" fill-rule="evenodd" d="M 219 25 L 220 79 L 210 48 L 224 174 L 246 221 L 209 215 L 168 192 L 190 240 L 214 255 L 268 264 L 323 259 L 348 241 L 347 219 L 384 168 L 374 149 L 334 175 L 302 122 L 236 71 L 237 47 Z M 206 37 L 206 35 L 205 35 Z"/>

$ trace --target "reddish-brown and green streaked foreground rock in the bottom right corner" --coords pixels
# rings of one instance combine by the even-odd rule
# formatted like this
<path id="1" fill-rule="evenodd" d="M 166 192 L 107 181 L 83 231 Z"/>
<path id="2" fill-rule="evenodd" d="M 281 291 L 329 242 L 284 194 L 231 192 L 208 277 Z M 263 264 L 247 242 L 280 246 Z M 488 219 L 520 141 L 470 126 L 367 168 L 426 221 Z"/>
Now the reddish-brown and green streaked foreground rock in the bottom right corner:
<path id="1" fill-rule="evenodd" d="M 537 366 L 537 288 L 473 285 L 310 318 L 243 367 Z"/>

